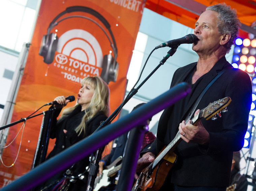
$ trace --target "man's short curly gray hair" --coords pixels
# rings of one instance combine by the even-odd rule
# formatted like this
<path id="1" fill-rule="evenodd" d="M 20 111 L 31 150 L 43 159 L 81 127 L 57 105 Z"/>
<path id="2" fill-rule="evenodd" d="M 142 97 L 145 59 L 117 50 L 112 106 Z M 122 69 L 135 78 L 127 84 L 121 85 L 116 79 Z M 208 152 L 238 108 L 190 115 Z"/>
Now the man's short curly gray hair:
<path id="1" fill-rule="evenodd" d="M 231 49 L 231 45 L 234 44 L 239 29 L 241 28 L 241 22 L 237 19 L 236 10 L 232 9 L 229 5 L 226 5 L 226 3 L 209 6 L 206 10 L 218 12 L 219 21 L 217 22 L 217 27 L 219 33 L 221 35 L 231 35 L 230 40 L 225 44 L 228 53 Z"/>

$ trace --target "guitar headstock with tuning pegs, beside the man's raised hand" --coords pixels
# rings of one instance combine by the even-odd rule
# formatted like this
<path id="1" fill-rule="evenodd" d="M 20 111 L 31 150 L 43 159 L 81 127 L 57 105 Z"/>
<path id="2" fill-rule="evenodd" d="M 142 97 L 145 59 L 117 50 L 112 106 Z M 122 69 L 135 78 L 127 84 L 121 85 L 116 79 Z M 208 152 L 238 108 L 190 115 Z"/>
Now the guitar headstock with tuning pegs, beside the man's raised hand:
<path id="1" fill-rule="evenodd" d="M 226 107 L 231 102 L 231 99 L 229 97 L 220 99 L 218 101 L 210 103 L 206 108 L 203 110 L 200 110 L 200 118 L 205 118 L 206 120 L 212 118 L 213 120 L 217 119 L 217 116 L 221 117 L 221 111 L 226 112 Z"/>

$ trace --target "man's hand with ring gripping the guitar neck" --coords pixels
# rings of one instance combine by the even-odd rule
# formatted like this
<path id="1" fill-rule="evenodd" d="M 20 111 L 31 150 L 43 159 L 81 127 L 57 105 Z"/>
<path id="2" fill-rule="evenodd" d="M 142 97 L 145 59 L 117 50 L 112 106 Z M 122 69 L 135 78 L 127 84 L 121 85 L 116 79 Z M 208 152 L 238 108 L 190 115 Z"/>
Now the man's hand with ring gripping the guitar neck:
<path id="1" fill-rule="evenodd" d="M 195 112 L 195 116 L 199 113 L 199 109 Z M 185 124 L 182 121 L 179 126 L 181 138 L 187 143 L 197 143 L 200 145 L 207 146 L 209 144 L 210 135 L 209 132 L 204 128 L 201 121 L 197 122 L 196 125 L 191 124 L 191 120 Z"/>

